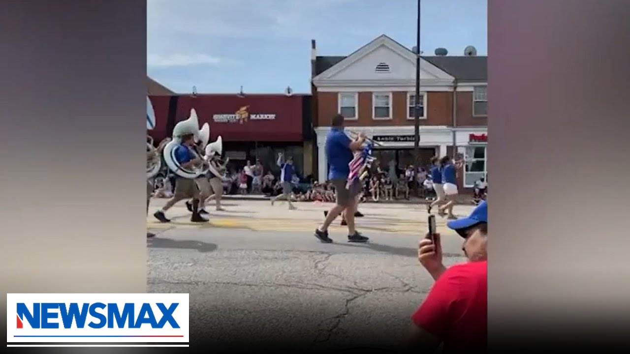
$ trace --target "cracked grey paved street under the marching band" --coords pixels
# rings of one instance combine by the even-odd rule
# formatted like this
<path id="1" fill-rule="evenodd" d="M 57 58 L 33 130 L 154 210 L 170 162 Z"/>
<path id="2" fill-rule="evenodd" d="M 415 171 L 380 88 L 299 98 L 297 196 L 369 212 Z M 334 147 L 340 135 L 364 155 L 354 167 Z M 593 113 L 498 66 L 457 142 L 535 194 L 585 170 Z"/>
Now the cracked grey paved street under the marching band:
<path id="1" fill-rule="evenodd" d="M 154 200 L 151 213 L 163 203 Z M 169 210 L 171 224 L 147 217 L 157 233 L 147 241 L 149 292 L 190 293 L 192 340 L 207 345 L 398 345 L 432 285 L 416 260 L 425 206 L 361 205 L 366 216 L 357 227 L 369 244 L 347 243 L 338 222 L 330 230 L 335 243 L 320 243 L 312 231 L 329 205 L 296 206 L 226 200 L 227 211 L 211 211 L 201 225 L 190 223 L 183 205 Z M 471 209 L 458 206 L 455 213 Z M 444 224 L 438 217 L 445 263 L 463 261 L 461 238 Z"/>

